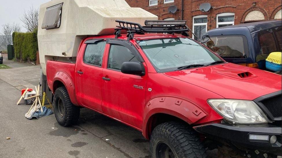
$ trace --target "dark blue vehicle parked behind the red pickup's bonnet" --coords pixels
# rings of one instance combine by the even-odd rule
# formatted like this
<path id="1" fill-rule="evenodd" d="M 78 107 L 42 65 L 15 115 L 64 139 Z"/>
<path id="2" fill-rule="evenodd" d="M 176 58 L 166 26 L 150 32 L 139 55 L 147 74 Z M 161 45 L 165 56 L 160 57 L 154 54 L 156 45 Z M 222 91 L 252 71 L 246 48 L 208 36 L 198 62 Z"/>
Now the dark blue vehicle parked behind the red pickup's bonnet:
<path id="1" fill-rule="evenodd" d="M 266 70 L 265 59 L 281 52 L 282 21 L 269 20 L 207 31 L 202 42 L 227 62 Z"/>

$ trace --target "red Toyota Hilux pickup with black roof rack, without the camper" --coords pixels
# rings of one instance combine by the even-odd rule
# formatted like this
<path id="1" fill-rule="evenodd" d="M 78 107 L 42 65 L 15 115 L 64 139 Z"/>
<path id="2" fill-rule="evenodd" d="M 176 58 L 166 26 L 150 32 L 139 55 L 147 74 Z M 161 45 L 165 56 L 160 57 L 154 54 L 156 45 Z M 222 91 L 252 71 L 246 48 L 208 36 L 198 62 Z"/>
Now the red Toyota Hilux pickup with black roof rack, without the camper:
<path id="1" fill-rule="evenodd" d="M 92 109 L 142 132 L 152 157 L 281 155 L 281 75 L 225 62 L 179 21 L 117 22 L 75 63 L 47 61 L 58 123 Z"/>

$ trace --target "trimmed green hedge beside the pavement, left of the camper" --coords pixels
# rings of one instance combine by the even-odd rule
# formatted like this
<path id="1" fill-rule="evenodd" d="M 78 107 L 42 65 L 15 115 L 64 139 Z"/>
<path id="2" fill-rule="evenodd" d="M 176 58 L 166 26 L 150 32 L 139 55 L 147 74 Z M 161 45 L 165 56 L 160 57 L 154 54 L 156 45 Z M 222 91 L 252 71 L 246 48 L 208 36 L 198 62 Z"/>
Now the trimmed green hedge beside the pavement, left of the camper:
<path id="1" fill-rule="evenodd" d="M 35 61 L 38 50 L 37 30 L 31 33 L 13 33 L 14 52 L 17 60 Z"/>

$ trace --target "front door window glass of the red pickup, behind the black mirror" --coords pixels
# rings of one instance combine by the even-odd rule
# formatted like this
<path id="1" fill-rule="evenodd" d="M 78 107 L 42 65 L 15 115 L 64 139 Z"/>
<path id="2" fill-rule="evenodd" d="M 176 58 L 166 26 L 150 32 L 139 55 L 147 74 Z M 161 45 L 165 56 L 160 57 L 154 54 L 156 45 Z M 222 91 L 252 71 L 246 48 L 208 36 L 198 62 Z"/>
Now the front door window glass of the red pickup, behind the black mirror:
<path id="1" fill-rule="evenodd" d="M 110 48 L 108 68 L 120 70 L 124 62 L 139 62 L 125 46 L 112 44 Z"/>

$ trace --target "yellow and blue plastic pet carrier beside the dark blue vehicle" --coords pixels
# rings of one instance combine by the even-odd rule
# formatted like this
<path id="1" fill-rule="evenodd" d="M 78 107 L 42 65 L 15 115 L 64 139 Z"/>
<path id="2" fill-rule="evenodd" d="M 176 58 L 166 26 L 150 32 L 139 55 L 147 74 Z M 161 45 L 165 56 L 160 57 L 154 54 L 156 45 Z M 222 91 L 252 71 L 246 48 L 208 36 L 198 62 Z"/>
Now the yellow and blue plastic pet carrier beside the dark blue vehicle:
<path id="1" fill-rule="evenodd" d="M 266 68 L 272 71 L 281 71 L 282 69 L 282 53 L 281 52 L 272 52 L 266 59 Z"/>

